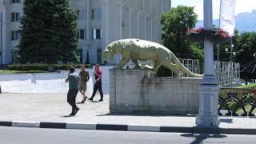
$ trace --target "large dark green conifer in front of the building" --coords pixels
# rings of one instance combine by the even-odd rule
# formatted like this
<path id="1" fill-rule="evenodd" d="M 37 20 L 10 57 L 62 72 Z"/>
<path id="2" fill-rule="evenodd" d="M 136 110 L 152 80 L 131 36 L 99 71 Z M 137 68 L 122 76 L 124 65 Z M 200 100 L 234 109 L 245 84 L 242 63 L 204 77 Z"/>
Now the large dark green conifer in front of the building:
<path id="1" fill-rule="evenodd" d="M 76 11 L 69 0 L 25 0 L 20 48 L 21 62 L 76 61 Z"/>

